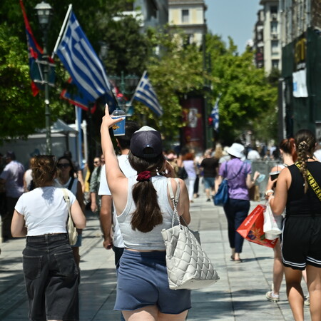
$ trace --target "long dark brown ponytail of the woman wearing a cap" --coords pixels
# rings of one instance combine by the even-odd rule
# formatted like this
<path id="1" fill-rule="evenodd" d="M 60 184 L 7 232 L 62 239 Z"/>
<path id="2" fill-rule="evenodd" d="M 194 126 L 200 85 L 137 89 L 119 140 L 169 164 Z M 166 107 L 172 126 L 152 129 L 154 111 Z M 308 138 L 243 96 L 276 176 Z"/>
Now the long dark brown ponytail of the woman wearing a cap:
<path id="1" fill-rule="evenodd" d="M 151 172 L 151 175 L 156 175 L 157 171 L 165 170 L 165 158 L 163 154 L 156 158 L 139 158 L 131 152 L 128 153 L 128 161 L 131 167 L 141 173 L 144 170 Z M 163 215 L 157 201 L 157 192 L 151 182 L 140 181 L 133 185 L 133 201 L 136 205 L 136 210 L 132 214 L 131 228 L 140 232 L 151 232 L 156 225 L 163 223 Z"/>

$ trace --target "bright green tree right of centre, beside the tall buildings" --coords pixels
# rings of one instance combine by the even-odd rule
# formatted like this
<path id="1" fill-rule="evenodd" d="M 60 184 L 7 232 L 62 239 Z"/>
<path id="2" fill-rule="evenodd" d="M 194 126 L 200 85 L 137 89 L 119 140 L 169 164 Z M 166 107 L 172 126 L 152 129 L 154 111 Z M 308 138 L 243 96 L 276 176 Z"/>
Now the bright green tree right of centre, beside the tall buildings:
<path id="1" fill-rule="evenodd" d="M 257 137 L 263 132 L 262 138 L 273 136 L 277 88 L 267 81 L 263 69 L 254 66 L 253 52 L 248 49 L 239 56 L 232 39 L 227 47 L 220 36 L 211 34 L 207 36 L 207 51 L 212 57 L 215 78 L 213 96 L 222 94 L 219 138 L 230 144 L 247 130 Z"/>

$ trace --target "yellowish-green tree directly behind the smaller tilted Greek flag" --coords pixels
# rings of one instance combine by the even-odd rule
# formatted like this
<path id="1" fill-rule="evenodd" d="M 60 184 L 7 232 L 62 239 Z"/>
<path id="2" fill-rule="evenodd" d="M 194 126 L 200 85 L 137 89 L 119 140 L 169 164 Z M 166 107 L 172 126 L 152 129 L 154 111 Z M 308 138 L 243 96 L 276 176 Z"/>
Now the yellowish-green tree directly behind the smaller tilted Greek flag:
<path id="1" fill-rule="evenodd" d="M 166 139 L 177 137 L 179 128 L 185 125 L 181 99 L 192 91 L 203 92 L 204 77 L 207 76 L 203 71 L 202 53 L 194 45 L 182 46 L 182 37 L 153 30 L 148 33 L 151 46 L 161 49 L 161 55 L 150 56 L 148 75 L 163 107 L 163 116 L 157 118 L 149 108 L 134 101 L 134 118 L 160 129 Z"/>

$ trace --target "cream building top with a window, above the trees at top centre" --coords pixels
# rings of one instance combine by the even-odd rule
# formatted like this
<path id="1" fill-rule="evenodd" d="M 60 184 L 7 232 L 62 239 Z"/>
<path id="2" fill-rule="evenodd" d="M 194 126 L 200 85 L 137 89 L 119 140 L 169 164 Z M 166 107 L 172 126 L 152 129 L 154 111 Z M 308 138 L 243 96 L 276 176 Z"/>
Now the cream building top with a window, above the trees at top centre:
<path id="1" fill-rule="evenodd" d="M 201 46 L 207 32 L 204 0 L 168 0 L 168 23 L 182 29 L 188 44 Z"/>

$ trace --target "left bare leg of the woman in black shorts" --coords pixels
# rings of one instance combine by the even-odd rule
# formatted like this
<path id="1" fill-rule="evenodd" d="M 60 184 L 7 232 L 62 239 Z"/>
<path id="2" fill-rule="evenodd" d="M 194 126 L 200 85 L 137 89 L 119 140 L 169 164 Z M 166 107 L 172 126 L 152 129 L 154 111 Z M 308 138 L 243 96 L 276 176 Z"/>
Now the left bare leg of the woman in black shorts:
<path id="1" fill-rule="evenodd" d="M 284 267 L 284 272 L 287 283 L 287 299 L 289 300 L 293 317 L 295 321 L 303 321 L 304 296 L 301 287 L 302 271 L 293 270 L 291 267 Z"/>

